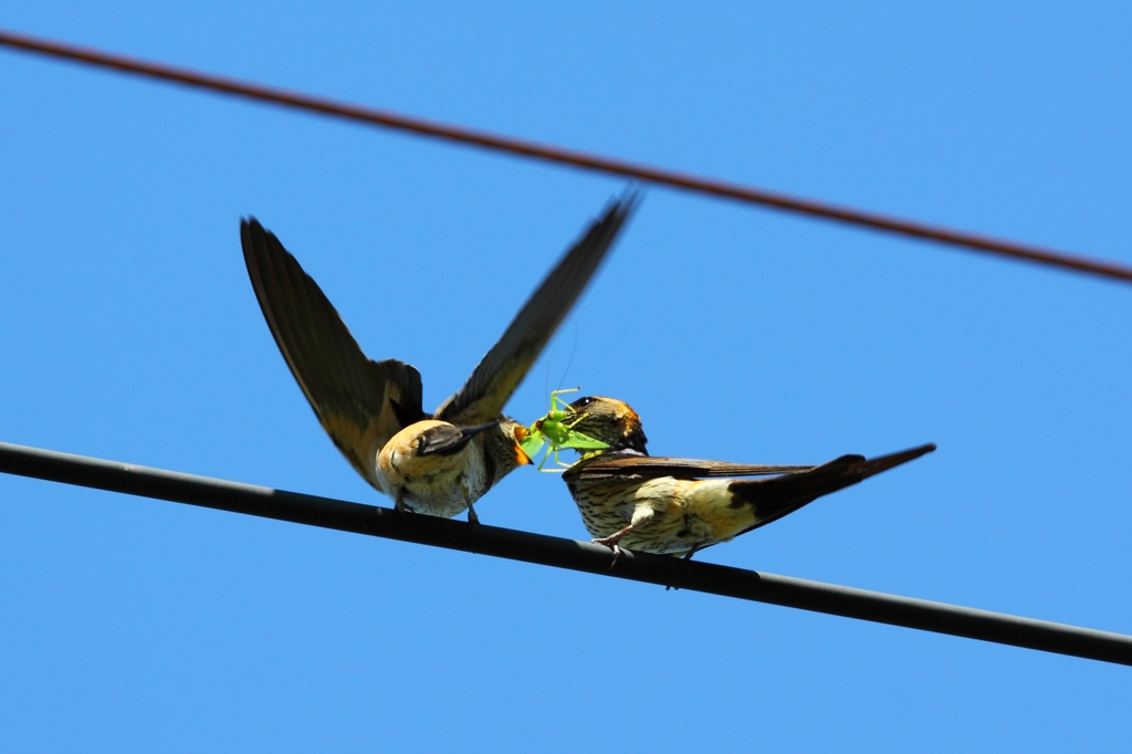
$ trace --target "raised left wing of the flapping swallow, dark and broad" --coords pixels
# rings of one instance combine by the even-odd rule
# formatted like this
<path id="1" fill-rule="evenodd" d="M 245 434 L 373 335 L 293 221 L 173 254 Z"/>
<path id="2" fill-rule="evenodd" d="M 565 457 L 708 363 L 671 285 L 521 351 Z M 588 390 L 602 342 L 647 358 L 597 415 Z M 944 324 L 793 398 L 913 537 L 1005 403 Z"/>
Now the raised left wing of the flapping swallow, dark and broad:
<path id="1" fill-rule="evenodd" d="M 275 343 L 323 429 L 370 483 L 377 453 L 424 418 L 421 376 L 408 363 L 371 361 L 318 284 L 255 217 L 240 223 L 243 260 Z"/>

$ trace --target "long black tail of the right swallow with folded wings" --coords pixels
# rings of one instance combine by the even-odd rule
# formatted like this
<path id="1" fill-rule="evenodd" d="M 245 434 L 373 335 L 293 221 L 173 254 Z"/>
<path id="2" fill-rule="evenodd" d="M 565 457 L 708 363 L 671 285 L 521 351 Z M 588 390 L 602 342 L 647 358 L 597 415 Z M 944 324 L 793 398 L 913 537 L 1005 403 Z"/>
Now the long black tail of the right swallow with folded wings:
<path id="1" fill-rule="evenodd" d="M 755 516 L 754 525 L 739 533 L 745 534 L 753 529 L 765 526 L 820 497 L 851 487 L 934 449 L 935 445 L 929 443 L 876 459 L 866 460 L 863 455 L 843 455 L 800 473 L 782 474 L 773 479 L 731 482 L 728 487 L 728 491 L 731 492 L 731 507 L 749 505 Z"/>

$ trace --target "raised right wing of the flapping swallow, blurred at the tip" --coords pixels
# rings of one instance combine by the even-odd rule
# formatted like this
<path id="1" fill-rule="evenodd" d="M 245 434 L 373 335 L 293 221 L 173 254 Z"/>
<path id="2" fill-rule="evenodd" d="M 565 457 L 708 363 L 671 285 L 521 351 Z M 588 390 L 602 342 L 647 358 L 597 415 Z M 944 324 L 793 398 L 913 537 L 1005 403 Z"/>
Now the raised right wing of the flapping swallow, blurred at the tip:
<path id="1" fill-rule="evenodd" d="M 499 415 L 585 290 L 636 204 L 636 192 L 610 203 L 582 240 L 559 259 L 464 386 L 440 404 L 436 410 L 437 419 L 479 425 Z"/>

